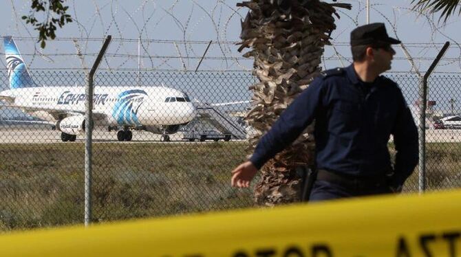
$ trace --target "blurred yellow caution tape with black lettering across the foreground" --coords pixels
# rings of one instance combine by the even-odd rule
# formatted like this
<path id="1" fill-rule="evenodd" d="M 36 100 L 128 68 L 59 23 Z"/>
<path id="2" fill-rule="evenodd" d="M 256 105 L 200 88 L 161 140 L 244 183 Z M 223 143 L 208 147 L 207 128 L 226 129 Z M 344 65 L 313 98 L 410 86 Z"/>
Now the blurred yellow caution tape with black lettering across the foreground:
<path id="1" fill-rule="evenodd" d="M 461 256 L 461 190 L 4 234 L 0 256 Z"/>

